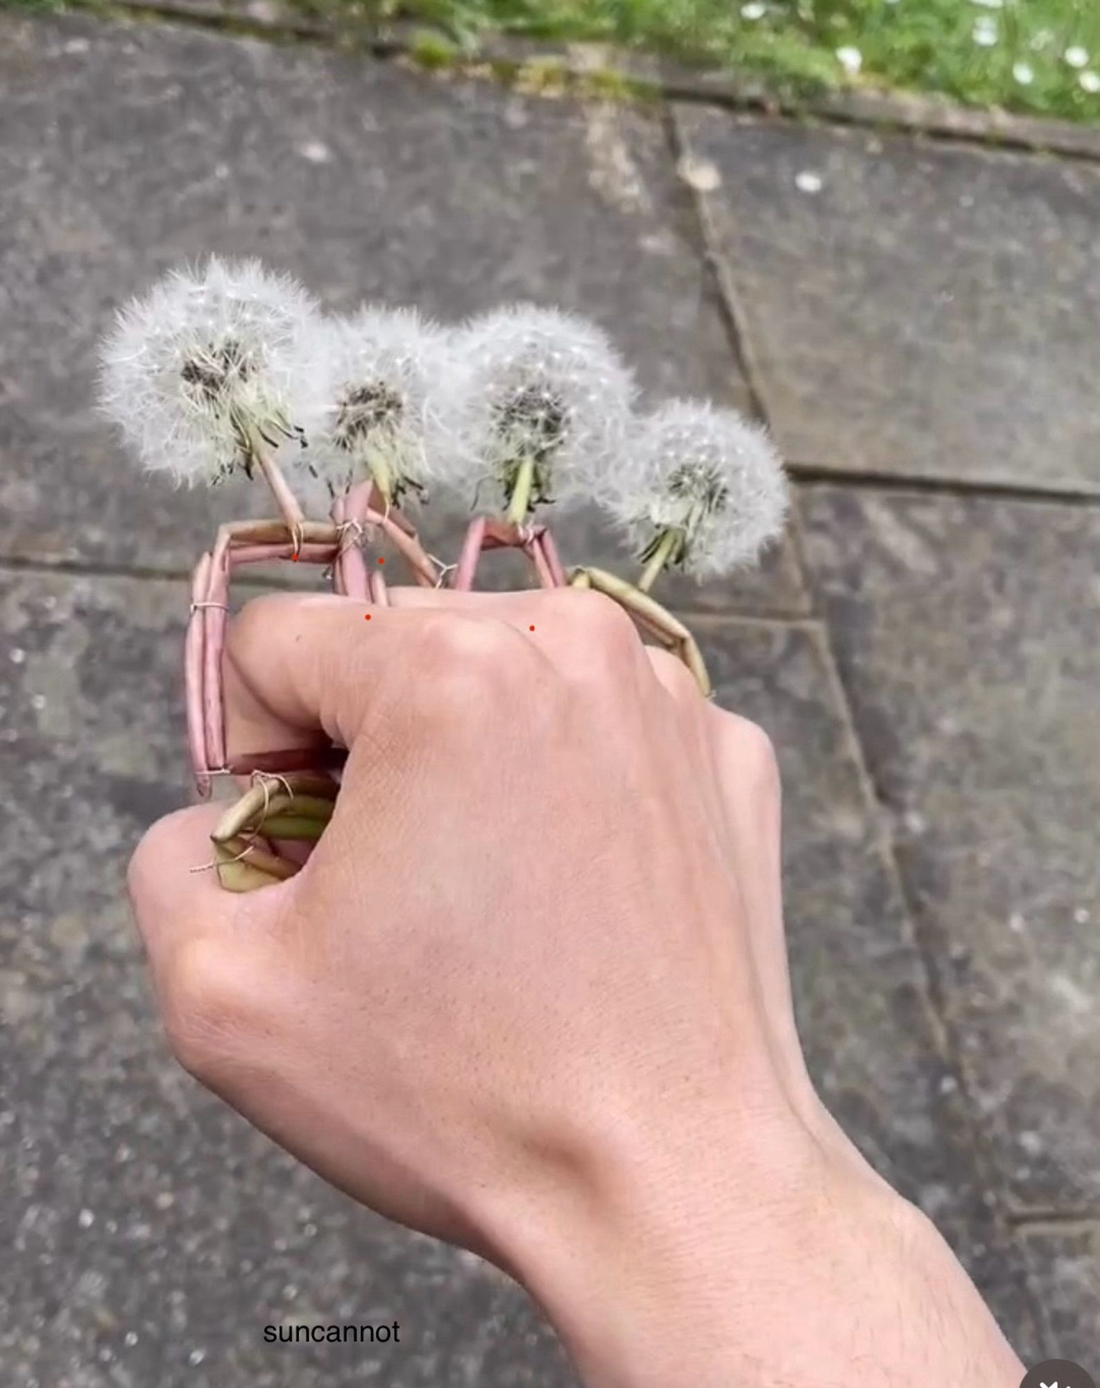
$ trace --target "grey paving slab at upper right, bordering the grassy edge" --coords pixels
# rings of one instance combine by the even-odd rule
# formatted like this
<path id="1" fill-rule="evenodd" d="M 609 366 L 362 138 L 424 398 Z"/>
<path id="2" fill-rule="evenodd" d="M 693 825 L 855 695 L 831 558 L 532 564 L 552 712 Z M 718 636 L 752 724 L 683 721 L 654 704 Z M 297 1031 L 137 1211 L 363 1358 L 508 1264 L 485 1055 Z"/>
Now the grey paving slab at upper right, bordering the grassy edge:
<path id="1" fill-rule="evenodd" d="M 677 119 L 788 457 L 1100 493 L 1100 168 L 702 107 Z"/>

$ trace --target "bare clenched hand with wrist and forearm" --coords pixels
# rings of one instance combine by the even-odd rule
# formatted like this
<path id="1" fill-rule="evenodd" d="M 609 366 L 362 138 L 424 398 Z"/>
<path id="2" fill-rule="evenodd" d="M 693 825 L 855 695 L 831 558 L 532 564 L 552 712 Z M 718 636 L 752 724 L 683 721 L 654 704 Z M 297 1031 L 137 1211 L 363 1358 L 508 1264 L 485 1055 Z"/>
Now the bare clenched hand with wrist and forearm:
<path id="1" fill-rule="evenodd" d="M 261 598 L 230 626 L 232 754 L 350 759 L 286 883 L 189 872 L 215 806 L 137 848 L 182 1063 L 515 1276 L 590 1388 L 1018 1388 L 807 1077 L 760 729 L 596 593 L 394 597 Z"/>

